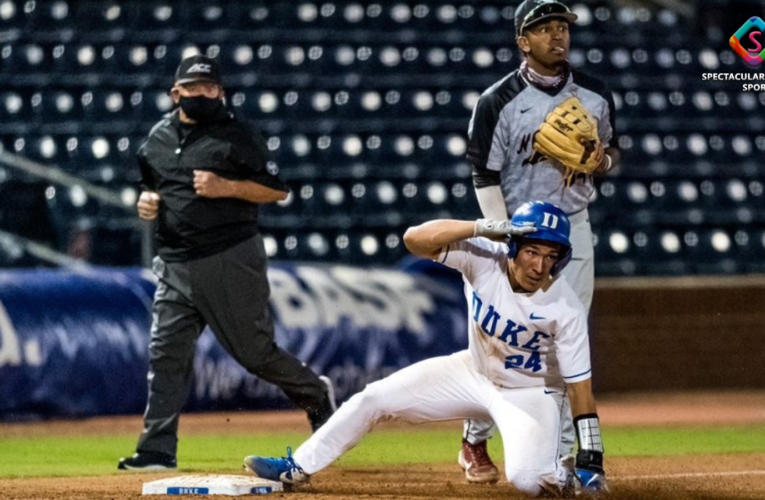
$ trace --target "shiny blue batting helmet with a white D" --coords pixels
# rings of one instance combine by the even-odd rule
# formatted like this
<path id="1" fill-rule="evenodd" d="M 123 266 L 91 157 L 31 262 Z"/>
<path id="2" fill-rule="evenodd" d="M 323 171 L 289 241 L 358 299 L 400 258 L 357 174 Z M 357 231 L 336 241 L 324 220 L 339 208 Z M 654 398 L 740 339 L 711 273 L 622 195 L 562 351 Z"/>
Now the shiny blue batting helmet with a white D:
<path id="1" fill-rule="evenodd" d="M 530 201 L 524 203 L 513 214 L 510 224 L 514 227 L 534 227 L 536 231 L 524 234 L 522 238 L 510 238 L 507 245 L 507 256 L 514 259 L 520 249 L 519 240 L 542 240 L 560 245 L 558 262 L 553 265 L 550 274 L 558 276 L 571 260 L 571 222 L 566 213 L 552 203 L 546 201 Z"/>

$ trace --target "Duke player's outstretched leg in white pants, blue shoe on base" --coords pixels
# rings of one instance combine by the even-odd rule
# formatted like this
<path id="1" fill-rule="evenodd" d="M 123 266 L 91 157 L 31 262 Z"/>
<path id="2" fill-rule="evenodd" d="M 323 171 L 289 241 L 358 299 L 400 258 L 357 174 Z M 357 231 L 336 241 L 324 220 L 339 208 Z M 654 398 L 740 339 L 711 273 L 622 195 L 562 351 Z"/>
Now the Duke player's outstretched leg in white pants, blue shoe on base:
<path id="1" fill-rule="evenodd" d="M 474 371 L 467 351 L 416 363 L 369 384 L 343 404 L 298 448 L 293 465 L 306 479 L 353 448 L 376 423 L 388 419 L 429 422 L 486 418 L 492 394 L 496 394 L 496 389 Z M 276 460 L 277 467 L 283 464 L 280 459 L 248 457 L 245 465 L 263 477 L 261 467 L 276 463 L 269 460 Z M 272 470 L 265 470 L 266 477 L 271 473 Z M 270 478 L 284 480 L 281 473 Z"/>

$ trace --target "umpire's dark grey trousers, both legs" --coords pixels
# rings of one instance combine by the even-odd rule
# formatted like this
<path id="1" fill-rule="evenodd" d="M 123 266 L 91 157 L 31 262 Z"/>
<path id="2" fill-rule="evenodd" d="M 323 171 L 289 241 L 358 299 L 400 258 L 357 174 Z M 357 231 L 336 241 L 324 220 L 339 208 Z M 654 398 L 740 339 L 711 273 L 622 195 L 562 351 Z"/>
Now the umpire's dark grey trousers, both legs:
<path id="1" fill-rule="evenodd" d="M 149 344 L 149 401 L 138 452 L 176 455 L 178 417 L 191 388 L 194 352 L 205 325 L 248 372 L 279 386 L 309 414 L 326 399 L 327 388 L 316 374 L 274 342 L 266 262 L 259 235 L 203 259 L 154 259 L 160 282 Z"/>

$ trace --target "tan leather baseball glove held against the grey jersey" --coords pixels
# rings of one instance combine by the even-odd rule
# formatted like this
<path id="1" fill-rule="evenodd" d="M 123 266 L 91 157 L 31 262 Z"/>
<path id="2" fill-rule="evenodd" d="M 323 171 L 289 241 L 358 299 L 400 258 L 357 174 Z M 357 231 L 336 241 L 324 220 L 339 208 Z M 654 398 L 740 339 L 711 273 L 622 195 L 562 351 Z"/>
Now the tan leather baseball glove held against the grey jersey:
<path id="1" fill-rule="evenodd" d="M 576 97 L 569 97 L 547 115 L 534 134 L 534 149 L 566 167 L 566 184 L 578 172 L 591 174 L 603 161 L 598 124 Z"/>

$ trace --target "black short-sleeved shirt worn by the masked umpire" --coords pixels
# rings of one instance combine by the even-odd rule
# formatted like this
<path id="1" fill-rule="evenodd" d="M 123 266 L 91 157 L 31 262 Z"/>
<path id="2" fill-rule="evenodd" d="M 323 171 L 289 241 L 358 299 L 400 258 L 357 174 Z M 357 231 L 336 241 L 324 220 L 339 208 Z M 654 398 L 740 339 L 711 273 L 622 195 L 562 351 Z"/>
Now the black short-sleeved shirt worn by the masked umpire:
<path id="1" fill-rule="evenodd" d="M 258 233 L 258 205 L 194 192 L 194 170 L 250 180 L 279 191 L 287 185 L 267 169 L 263 137 L 221 107 L 209 122 L 188 126 L 178 110 L 154 125 L 138 150 L 142 187 L 161 196 L 157 251 L 166 262 L 208 257 Z"/>

